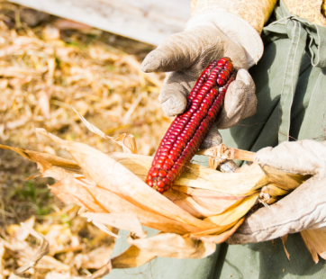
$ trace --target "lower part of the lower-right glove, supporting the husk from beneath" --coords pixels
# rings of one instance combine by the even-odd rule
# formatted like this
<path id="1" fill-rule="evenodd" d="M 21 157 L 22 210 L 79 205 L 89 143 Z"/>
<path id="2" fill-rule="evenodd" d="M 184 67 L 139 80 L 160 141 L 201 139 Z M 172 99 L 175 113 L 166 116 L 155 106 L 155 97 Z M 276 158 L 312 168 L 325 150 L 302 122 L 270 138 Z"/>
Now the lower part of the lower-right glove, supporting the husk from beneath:
<path id="1" fill-rule="evenodd" d="M 326 188 L 322 180 L 312 177 L 282 200 L 251 214 L 228 242 L 261 242 L 303 229 L 325 226 L 325 196 Z"/>

